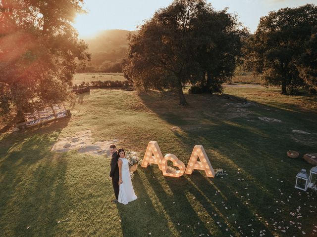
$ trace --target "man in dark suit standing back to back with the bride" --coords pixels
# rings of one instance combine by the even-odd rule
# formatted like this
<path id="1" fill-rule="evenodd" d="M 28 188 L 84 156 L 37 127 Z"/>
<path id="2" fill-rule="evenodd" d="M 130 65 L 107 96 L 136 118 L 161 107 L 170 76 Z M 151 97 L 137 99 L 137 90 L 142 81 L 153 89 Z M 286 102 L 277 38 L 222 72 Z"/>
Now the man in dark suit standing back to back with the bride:
<path id="1" fill-rule="evenodd" d="M 110 179 L 112 179 L 112 186 L 115 195 L 115 199 L 112 200 L 113 203 L 118 202 L 119 196 L 119 166 L 118 166 L 118 153 L 116 151 L 116 147 L 114 144 L 109 146 L 110 154 L 111 154 L 111 162 L 110 162 Z"/>

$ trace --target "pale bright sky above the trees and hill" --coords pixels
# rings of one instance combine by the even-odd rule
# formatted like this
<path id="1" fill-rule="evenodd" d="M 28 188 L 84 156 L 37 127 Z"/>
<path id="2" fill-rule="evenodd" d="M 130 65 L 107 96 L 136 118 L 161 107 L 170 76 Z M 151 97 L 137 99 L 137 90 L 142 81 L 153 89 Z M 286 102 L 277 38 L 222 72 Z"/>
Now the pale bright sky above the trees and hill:
<path id="1" fill-rule="evenodd" d="M 145 19 L 152 17 L 160 7 L 172 0 L 85 0 L 87 14 L 76 17 L 74 24 L 81 38 L 92 37 L 102 30 L 136 30 Z M 269 11 L 283 7 L 296 7 L 306 3 L 317 4 L 317 0 L 209 0 L 216 10 L 229 7 L 236 12 L 240 22 L 253 33 L 260 17 Z"/>

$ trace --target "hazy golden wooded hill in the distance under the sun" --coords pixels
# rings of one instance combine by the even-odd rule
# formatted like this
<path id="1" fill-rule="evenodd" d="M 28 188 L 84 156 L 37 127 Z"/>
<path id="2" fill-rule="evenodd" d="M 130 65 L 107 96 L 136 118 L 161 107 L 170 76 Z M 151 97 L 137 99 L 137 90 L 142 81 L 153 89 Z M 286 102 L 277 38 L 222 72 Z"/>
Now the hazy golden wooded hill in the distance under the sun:
<path id="1" fill-rule="evenodd" d="M 120 62 L 128 48 L 128 34 L 137 31 L 106 30 L 94 38 L 84 39 L 92 53 L 92 59 L 85 71 L 78 72 L 121 72 Z"/>

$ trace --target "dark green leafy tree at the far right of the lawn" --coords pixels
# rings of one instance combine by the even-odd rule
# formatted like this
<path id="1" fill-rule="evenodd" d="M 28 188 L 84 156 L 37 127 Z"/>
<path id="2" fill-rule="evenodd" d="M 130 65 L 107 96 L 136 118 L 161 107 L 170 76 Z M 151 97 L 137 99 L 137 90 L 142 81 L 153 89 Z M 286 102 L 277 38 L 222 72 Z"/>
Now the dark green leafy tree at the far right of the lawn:
<path id="1" fill-rule="evenodd" d="M 313 4 L 270 12 L 248 40 L 247 64 L 265 85 L 281 86 L 282 94 L 305 85 L 300 59 L 305 61 L 302 55 L 316 26 L 317 7 Z"/>

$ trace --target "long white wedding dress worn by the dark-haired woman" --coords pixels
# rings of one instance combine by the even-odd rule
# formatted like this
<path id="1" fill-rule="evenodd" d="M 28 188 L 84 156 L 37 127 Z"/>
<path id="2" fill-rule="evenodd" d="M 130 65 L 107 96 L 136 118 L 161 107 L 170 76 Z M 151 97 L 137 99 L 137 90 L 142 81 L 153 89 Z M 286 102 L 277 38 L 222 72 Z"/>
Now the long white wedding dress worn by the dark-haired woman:
<path id="1" fill-rule="evenodd" d="M 119 185 L 119 197 L 118 202 L 122 204 L 128 204 L 130 201 L 134 201 L 138 197 L 135 195 L 130 170 L 129 170 L 129 161 L 126 158 L 119 158 L 122 160 L 121 166 L 121 179 L 122 184 Z"/>

